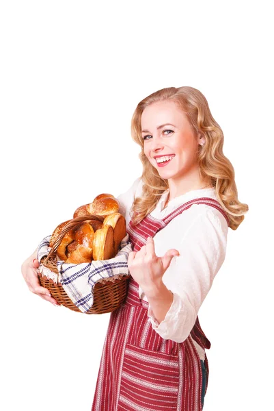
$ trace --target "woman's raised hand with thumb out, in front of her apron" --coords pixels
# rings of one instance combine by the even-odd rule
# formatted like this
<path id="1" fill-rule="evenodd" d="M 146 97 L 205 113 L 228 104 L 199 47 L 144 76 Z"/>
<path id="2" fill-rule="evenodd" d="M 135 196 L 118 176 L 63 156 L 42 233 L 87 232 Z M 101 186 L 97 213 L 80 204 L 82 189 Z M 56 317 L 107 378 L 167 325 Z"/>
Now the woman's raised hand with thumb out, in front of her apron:
<path id="1" fill-rule="evenodd" d="M 162 284 L 162 277 L 167 271 L 174 256 L 180 253 L 176 249 L 169 249 L 165 256 L 157 257 L 154 249 L 154 240 L 148 237 L 146 245 L 139 251 L 128 254 L 128 269 L 131 276 L 143 290 L 151 290 Z"/>

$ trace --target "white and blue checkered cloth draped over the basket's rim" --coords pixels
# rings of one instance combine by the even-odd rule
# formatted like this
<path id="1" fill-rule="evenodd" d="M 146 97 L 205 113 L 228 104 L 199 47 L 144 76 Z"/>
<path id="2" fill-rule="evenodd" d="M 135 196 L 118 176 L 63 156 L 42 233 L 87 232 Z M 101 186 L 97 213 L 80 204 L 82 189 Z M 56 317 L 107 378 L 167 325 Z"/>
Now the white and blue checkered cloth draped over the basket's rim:
<path id="1" fill-rule="evenodd" d="M 50 240 L 51 236 L 47 236 L 38 245 L 37 258 L 39 262 L 51 250 L 51 247 L 49 247 Z M 64 261 L 57 261 L 59 274 L 52 273 L 42 265 L 38 270 L 46 277 L 53 279 L 55 283 L 61 283 L 75 306 L 81 312 L 86 312 L 92 307 L 96 282 L 101 282 L 100 280 L 105 278 L 113 281 L 118 275 L 130 275 L 127 262 L 128 253 L 131 251 L 133 251 L 133 247 L 128 240 L 128 234 L 126 234 L 117 256 L 110 260 L 94 260 L 81 264 L 66 264 Z"/>

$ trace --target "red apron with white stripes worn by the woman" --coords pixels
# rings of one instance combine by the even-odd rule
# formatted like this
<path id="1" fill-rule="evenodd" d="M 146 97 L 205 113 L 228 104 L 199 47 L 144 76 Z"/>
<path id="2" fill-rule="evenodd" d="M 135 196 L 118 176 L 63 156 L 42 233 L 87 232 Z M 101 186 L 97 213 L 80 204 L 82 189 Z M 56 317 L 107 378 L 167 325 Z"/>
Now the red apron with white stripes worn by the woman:
<path id="1" fill-rule="evenodd" d="M 193 204 L 217 208 L 229 223 L 215 199 L 193 199 L 163 220 L 148 215 L 136 226 L 130 222 L 133 250 Z M 210 349 L 198 316 L 190 335 L 203 349 Z M 202 366 L 193 340 L 189 336 L 176 343 L 152 329 L 148 301 L 139 298 L 139 285 L 131 277 L 126 300 L 111 312 L 92 411 L 202 411 Z M 206 355 L 205 366 L 208 374 Z M 207 386 L 208 380 L 206 390 Z"/>

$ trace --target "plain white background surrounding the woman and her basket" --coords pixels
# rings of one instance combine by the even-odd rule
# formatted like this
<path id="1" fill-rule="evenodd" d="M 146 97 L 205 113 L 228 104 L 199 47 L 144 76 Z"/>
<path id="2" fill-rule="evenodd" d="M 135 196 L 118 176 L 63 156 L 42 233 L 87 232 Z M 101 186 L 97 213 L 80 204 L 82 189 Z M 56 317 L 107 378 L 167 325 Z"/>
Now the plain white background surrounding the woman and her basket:
<path id="1" fill-rule="evenodd" d="M 90 411 L 109 314 L 55 308 L 20 265 L 78 206 L 141 175 L 131 116 L 168 86 L 204 93 L 249 205 L 199 313 L 204 411 L 274 410 L 270 3 L 1 2 L 2 410 Z"/>

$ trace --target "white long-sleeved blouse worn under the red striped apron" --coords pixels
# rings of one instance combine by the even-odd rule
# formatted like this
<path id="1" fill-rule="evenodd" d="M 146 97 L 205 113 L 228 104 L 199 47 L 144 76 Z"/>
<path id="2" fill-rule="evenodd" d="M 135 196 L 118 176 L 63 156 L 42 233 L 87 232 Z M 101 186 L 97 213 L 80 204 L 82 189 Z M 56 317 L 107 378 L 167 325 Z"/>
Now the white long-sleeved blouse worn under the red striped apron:
<path id="1" fill-rule="evenodd" d="M 134 198 L 141 196 L 142 186 L 143 182 L 138 178 L 128 191 L 118 196 L 120 212 L 124 215 L 127 226 L 131 221 L 131 206 Z M 163 193 L 156 208 L 150 213 L 152 217 L 164 219 L 191 199 L 217 199 L 214 188 L 191 190 L 169 201 L 163 209 L 168 192 L 169 190 L 166 190 Z M 228 223 L 223 214 L 206 204 L 193 204 L 155 234 L 156 256 L 163 256 L 168 249 L 173 248 L 180 253 L 180 256 L 172 259 L 163 275 L 163 283 L 174 294 L 172 306 L 165 319 L 158 323 L 150 305 L 148 306 L 148 318 L 152 328 L 162 338 L 182 343 L 189 336 L 202 302 L 225 260 L 227 234 Z M 139 297 L 148 301 L 141 286 Z M 193 343 L 200 358 L 204 360 L 204 349 L 194 340 Z"/>

